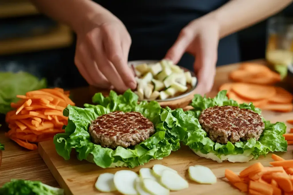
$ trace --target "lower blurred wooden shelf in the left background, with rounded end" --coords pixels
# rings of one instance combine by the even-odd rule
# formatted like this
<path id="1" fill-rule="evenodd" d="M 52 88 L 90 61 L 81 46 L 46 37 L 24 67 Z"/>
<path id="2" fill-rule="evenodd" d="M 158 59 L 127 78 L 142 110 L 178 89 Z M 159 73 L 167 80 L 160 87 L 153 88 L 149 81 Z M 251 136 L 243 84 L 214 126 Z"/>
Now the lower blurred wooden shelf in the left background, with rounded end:
<path id="1" fill-rule="evenodd" d="M 0 41 L 0 55 L 56 49 L 69 46 L 72 41 L 70 28 L 59 25 L 56 30 L 48 34 Z"/>

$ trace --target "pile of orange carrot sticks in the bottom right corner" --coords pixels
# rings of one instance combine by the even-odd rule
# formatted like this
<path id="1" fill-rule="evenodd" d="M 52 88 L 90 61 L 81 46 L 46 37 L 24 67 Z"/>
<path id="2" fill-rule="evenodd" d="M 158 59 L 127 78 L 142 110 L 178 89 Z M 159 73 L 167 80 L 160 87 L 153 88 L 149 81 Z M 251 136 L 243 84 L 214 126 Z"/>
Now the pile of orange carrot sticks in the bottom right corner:
<path id="1" fill-rule="evenodd" d="M 250 195 L 293 194 L 293 160 L 285 160 L 275 154 L 272 154 L 272 159 L 272 167 L 255 163 L 239 175 L 226 169 L 225 177 L 234 187 Z"/>

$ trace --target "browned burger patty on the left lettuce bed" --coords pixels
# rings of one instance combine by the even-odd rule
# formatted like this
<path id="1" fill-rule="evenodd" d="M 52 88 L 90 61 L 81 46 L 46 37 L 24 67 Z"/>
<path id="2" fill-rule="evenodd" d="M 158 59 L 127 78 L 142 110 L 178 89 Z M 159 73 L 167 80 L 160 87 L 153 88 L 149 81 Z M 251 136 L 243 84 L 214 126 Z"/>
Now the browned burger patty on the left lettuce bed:
<path id="1" fill-rule="evenodd" d="M 104 114 L 93 120 L 89 127 L 93 142 L 109 148 L 134 146 L 154 132 L 154 124 L 138 112 Z"/>

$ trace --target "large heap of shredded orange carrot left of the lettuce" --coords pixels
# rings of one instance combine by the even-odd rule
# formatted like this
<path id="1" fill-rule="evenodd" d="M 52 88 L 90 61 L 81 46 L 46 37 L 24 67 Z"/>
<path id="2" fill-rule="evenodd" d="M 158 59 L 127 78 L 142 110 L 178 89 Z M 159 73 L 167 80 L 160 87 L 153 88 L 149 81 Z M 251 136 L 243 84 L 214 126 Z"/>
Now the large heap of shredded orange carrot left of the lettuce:
<path id="1" fill-rule="evenodd" d="M 20 146 L 30 150 L 38 148 L 36 143 L 53 139 L 57 133 L 64 132 L 67 117 L 63 110 L 74 103 L 69 99 L 69 92 L 63 89 L 40 89 L 18 95 L 20 100 L 11 103 L 16 110 L 6 114 L 10 130 L 5 134 Z"/>

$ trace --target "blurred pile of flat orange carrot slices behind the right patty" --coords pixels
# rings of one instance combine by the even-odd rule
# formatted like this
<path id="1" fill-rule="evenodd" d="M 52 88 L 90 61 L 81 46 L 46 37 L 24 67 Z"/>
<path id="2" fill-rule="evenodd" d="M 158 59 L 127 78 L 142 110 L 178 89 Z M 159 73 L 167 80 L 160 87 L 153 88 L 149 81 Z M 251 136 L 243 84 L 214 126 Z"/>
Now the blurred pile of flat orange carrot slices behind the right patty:
<path id="1" fill-rule="evenodd" d="M 227 90 L 227 96 L 238 103 L 252 102 L 262 110 L 293 111 L 293 95 L 281 87 L 270 86 L 280 81 L 280 75 L 262 64 L 243 63 L 229 77 L 236 82 L 225 83 L 219 91 Z"/>

